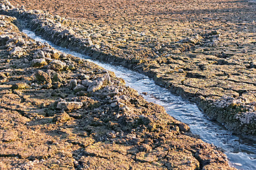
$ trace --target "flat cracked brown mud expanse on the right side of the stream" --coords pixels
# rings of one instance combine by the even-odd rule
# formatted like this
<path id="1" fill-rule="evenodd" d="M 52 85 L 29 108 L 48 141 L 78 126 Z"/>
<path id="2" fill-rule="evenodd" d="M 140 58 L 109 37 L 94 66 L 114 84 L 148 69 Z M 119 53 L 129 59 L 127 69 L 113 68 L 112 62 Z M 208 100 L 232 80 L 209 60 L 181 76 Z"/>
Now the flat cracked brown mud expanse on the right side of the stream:
<path id="1" fill-rule="evenodd" d="M 11 0 L 11 3 L 65 16 L 67 20 L 55 18 L 56 23 L 73 30 L 87 42 L 85 47 L 100 52 L 101 57 L 94 57 L 154 77 L 174 93 L 196 101 L 211 119 L 255 139 L 255 3 L 235 0 Z M 63 42 L 60 40 L 58 44 Z"/>

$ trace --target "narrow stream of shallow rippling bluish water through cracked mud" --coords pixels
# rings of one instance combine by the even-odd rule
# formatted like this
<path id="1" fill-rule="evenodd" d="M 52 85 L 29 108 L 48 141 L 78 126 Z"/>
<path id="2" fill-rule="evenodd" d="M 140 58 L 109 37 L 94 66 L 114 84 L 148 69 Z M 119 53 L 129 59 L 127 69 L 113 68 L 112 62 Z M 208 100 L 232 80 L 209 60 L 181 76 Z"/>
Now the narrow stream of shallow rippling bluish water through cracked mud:
<path id="1" fill-rule="evenodd" d="M 237 169 L 256 169 L 256 144 L 250 142 L 250 140 L 245 140 L 232 135 L 232 133 L 226 130 L 220 123 L 208 120 L 206 115 L 203 115 L 195 103 L 185 101 L 181 97 L 171 94 L 170 91 L 164 87 L 156 85 L 152 79 L 146 77 L 144 74 L 134 72 L 122 66 L 92 60 L 86 55 L 81 55 L 78 52 L 58 47 L 53 45 L 52 42 L 43 40 L 40 36 L 35 35 L 35 33 L 30 30 L 23 30 L 23 33 L 26 33 L 34 40 L 47 42 L 52 47 L 55 47 L 56 50 L 94 62 L 95 64 L 114 72 L 117 77 L 124 79 L 127 86 L 136 89 L 139 94 L 143 93 L 142 96 L 144 96 L 147 101 L 164 106 L 169 115 L 177 120 L 181 120 L 183 123 L 187 123 L 194 134 L 200 135 L 201 140 L 217 147 L 221 147 L 223 152 L 227 154 L 232 166 Z"/>

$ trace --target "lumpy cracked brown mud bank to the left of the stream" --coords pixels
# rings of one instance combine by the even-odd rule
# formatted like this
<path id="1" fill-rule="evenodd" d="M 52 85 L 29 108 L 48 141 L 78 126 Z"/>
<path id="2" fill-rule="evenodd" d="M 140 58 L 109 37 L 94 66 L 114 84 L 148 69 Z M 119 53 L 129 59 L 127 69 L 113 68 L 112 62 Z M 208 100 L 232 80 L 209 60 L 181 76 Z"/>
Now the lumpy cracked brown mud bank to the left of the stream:
<path id="1" fill-rule="evenodd" d="M 233 169 L 112 72 L 0 16 L 0 169 Z"/>

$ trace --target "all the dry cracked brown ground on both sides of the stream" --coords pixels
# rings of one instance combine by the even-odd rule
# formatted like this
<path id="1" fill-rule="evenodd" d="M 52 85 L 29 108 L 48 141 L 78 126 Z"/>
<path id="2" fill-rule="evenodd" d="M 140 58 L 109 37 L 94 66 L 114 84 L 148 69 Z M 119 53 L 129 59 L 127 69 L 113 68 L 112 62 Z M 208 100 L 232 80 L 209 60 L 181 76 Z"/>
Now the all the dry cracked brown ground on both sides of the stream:
<path id="1" fill-rule="evenodd" d="M 254 3 L 0 2 L 0 169 L 233 169 L 114 73 L 31 40 L 25 26 L 142 72 L 255 140 Z"/>

